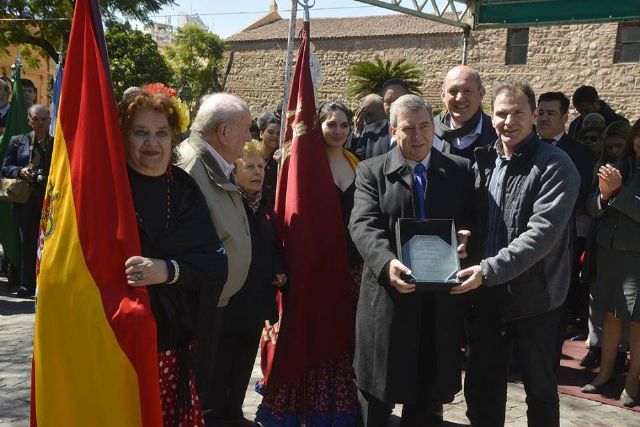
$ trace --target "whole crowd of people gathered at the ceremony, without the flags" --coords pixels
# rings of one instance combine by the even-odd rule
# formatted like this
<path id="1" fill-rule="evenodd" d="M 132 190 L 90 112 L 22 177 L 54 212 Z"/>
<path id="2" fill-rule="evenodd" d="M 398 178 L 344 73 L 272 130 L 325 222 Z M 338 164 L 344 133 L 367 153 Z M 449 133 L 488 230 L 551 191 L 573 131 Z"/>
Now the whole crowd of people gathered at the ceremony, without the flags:
<path id="1" fill-rule="evenodd" d="M 0 82 L 6 104 L 3 91 Z M 252 421 L 242 403 L 259 345 L 269 357 L 265 343 L 288 348 L 278 347 L 283 322 L 324 321 L 290 309 L 290 289 L 305 283 L 288 280 L 274 212 L 285 116 L 254 121 L 241 98 L 206 95 L 185 139 L 174 94 L 127 91 L 118 112 L 142 250 L 123 272 L 149 291 L 165 426 L 385 426 L 395 404 L 402 426 L 435 426 L 463 389 L 463 365 L 472 425 L 504 425 L 516 365 L 529 425 L 559 426 L 567 333 L 587 339 L 580 363 L 600 366 L 584 393 L 614 392 L 627 370 L 617 397 L 640 404 L 640 120 L 631 126 L 591 86 L 572 100 L 536 98 L 528 83 L 507 81 L 494 86 L 490 111 L 485 95 L 480 74 L 456 66 L 437 116 L 401 79 L 355 113 L 340 100 L 319 105 L 313 126 L 344 225 L 342 247 L 329 252 L 346 266 L 326 292 L 349 300 L 323 314 L 343 328 L 308 339 L 347 345 L 294 378 L 258 383 Z M 567 129 L 571 103 L 579 115 Z M 28 114 L 33 131 L 9 141 L 2 175 L 40 185 L 49 112 L 35 104 Z M 37 190 L 13 210 L 20 296 L 35 290 L 41 204 Z M 401 218 L 454 220 L 459 285 L 424 291 L 408 279 Z"/>

